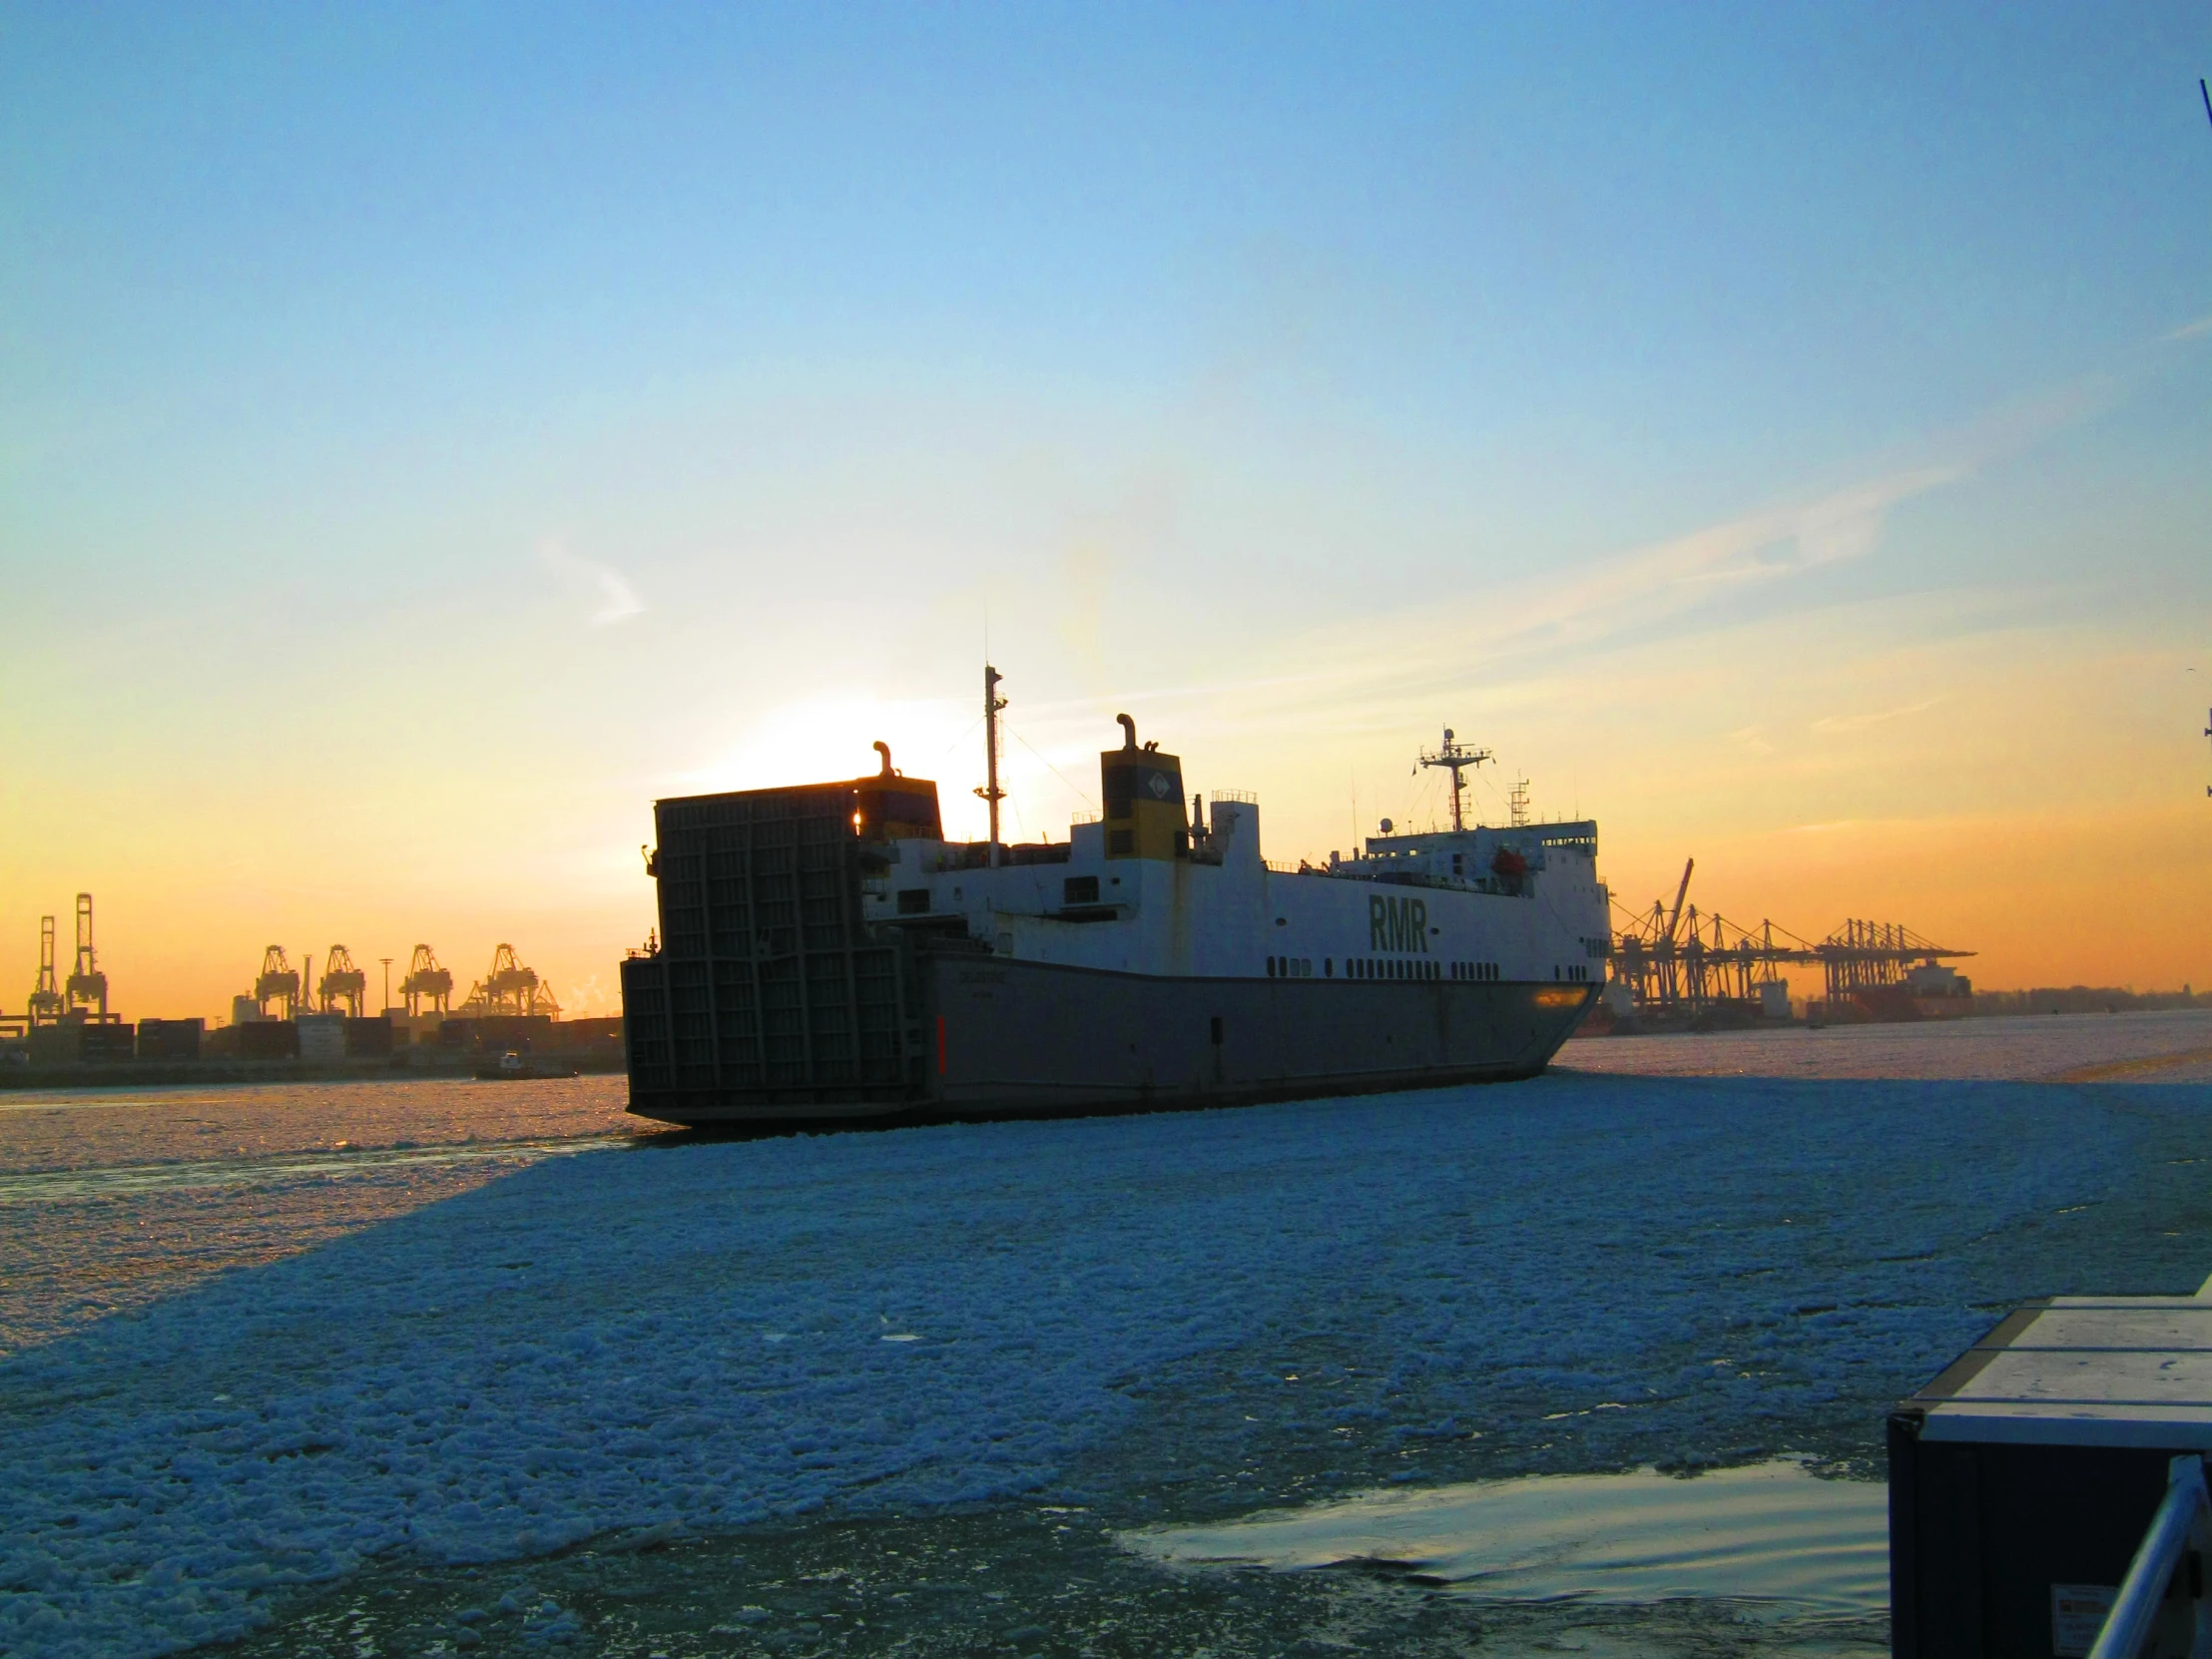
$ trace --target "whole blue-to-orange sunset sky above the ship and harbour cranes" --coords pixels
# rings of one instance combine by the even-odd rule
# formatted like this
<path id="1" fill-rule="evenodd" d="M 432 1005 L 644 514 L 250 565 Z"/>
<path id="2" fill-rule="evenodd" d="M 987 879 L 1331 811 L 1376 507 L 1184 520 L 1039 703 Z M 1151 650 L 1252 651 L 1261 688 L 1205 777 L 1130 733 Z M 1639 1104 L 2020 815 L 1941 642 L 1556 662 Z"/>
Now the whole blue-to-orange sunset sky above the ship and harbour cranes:
<path id="1" fill-rule="evenodd" d="M 0 7 L 0 1011 L 509 940 L 657 796 L 1478 805 L 2212 984 L 2212 15 Z M 398 971 L 398 969 L 396 969 Z M 66 973 L 66 964 L 64 964 Z M 1798 984 L 1803 993 L 1805 984 Z"/>

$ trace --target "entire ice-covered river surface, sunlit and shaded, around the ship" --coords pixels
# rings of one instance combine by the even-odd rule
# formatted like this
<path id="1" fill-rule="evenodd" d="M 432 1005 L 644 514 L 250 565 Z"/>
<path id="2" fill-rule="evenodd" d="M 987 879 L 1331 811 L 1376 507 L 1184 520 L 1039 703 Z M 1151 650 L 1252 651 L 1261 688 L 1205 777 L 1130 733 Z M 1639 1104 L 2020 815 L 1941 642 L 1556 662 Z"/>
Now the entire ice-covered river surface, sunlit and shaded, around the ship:
<path id="1" fill-rule="evenodd" d="M 699 1139 L 0 1095 L 0 1648 L 1874 1655 L 1882 1411 L 2212 1272 L 2212 1015 Z"/>

